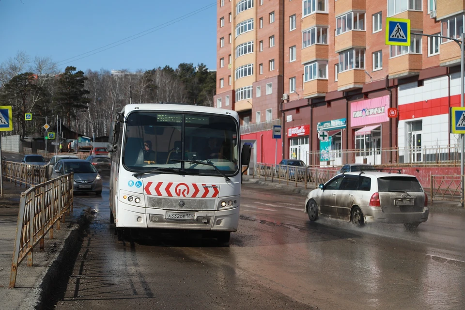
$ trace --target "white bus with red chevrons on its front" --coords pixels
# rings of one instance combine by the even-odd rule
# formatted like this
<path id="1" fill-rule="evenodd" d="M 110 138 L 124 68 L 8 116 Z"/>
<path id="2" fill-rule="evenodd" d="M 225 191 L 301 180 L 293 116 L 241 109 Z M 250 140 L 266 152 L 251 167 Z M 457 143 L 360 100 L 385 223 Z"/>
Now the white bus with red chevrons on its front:
<path id="1" fill-rule="evenodd" d="M 118 239 L 132 229 L 237 231 L 242 146 L 235 111 L 181 104 L 131 104 L 112 123 L 110 221 Z"/>

